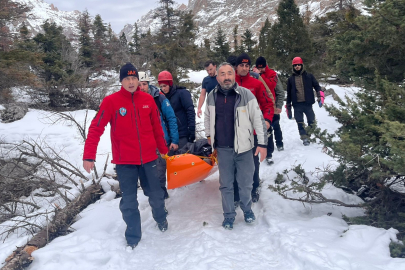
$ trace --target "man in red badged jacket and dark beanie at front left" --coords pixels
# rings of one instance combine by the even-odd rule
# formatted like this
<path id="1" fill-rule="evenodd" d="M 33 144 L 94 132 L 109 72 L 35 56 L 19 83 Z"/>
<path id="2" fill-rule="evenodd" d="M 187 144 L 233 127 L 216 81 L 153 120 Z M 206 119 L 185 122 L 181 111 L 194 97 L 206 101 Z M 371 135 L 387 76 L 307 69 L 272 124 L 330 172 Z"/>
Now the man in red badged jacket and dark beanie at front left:
<path id="1" fill-rule="evenodd" d="M 139 75 L 131 64 L 120 70 L 120 91 L 107 96 L 91 122 L 84 145 L 83 167 L 90 173 L 94 168 L 97 145 L 105 126 L 111 126 L 112 163 L 116 164 L 122 192 L 120 210 L 127 224 L 125 238 L 130 248 L 141 240 L 141 217 L 138 209 L 138 176 L 142 190 L 149 197 L 153 218 L 159 229 L 168 228 L 163 190 L 156 167 L 156 148 L 167 153 L 159 110 L 152 96 L 140 91 Z"/>

